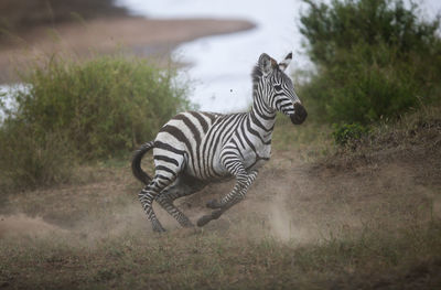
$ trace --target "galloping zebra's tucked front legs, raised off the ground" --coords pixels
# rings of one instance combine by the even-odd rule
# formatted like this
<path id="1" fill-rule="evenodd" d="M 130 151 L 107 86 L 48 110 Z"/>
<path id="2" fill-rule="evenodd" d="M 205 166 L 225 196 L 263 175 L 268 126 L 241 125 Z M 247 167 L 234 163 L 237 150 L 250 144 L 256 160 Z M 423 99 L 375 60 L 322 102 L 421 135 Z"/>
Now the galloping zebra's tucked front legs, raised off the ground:
<path id="1" fill-rule="evenodd" d="M 216 200 L 208 202 L 207 206 L 211 208 L 217 208 L 208 215 L 202 216 L 197 219 L 197 226 L 204 226 L 213 219 L 219 218 L 226 211 L 228 211 L 233 205 L 239 203 L 245 198 L 248 187 L 257 178 L 257 170 L 250 171 L 250 173 L 241 173 L 236 178 L 236 184 L 232 192 L 225 195 L 220 202 Z"/>

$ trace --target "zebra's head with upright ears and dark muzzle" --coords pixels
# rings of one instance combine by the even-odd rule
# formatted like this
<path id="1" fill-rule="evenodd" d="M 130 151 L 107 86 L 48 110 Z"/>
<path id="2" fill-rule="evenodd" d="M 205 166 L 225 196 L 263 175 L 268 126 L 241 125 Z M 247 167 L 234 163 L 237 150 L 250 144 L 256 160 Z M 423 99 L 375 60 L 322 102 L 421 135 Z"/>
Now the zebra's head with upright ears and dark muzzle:
<path id="1" fill-rule="evenodd" d="M 292 123 L 300 125 L 308 112 L 294 92 L 291 78 L 284 73 L 291 60 L 292 53 L 280 63 L 262 53 L 252 75 L 257 88 L 263 92 L 261 96 L 266 107 L 287 115 Z"/>

